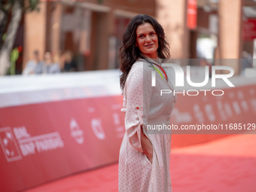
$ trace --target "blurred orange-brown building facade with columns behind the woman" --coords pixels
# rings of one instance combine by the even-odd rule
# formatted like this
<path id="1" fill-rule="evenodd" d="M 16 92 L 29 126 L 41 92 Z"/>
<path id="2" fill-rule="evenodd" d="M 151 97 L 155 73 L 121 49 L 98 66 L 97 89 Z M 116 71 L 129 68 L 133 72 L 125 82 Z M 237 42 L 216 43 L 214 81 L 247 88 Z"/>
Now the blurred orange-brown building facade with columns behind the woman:
<path id="1" fill-rule="evenodd" d="M 24 17 L 23 66 L 39 50 L 41 57 L 72 52 L 78 71 L 117 68 L 123 30 L 136 14 L 162 24 L 172 58 L 239 59 L 242 51 L 253 55 L 254 36 L 244 33 L 256 31 L 245 30 L 254 7 L 250 0 L 44 1 Z M 238 75 L 239 60 L 231 66 Z"/>

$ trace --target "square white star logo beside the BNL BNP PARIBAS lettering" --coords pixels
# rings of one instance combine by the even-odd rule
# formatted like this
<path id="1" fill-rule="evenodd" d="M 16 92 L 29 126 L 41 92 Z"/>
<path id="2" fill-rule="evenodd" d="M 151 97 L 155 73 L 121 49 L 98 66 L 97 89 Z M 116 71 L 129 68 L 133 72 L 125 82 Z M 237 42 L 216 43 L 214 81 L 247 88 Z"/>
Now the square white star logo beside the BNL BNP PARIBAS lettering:
<path id="1" fill-rule="evenodd" d="M 0 143 L 8 162 L 22 159 L 20 149 L 17 145 L 16 139 L 14 139 L 11 127 L 0 129 Z"/>

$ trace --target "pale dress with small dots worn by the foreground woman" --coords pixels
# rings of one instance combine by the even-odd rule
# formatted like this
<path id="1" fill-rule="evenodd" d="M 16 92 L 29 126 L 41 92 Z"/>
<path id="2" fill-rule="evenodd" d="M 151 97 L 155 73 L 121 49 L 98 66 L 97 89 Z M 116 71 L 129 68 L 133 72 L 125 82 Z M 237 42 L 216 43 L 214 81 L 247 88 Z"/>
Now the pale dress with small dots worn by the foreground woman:
<path id="1" fill-rule="evenodd" d="M 120 147 L 119 192 L 172 191 L 169 172 L 170 130 L 163 134 L 150 130 L 149 126 L 170 124 L 176 98 L 172 94 L 160 96 L 160 90 L 173 90 L 173 86 L 171 82 L 166 81 L 164 75 L 162 78 L 148 61 L 150 59 L 138 59 L 133 64 L 123 89 L 121 111 L 126 112 L 126 133 Z M 152 71 L 156 75 L 155 87 L 151 86 Z M 152 163 L 142 153 L 142 132 L 153 146 Z"/>

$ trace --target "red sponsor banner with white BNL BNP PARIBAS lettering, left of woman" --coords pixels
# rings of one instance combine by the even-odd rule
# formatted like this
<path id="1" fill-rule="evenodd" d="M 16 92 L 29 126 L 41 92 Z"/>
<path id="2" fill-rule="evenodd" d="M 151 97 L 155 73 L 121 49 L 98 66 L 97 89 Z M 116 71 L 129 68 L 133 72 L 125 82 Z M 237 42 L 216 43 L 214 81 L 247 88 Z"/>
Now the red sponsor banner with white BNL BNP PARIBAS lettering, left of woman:
<path id="1" fill-rule="evenodd" d="M 1 108 L 1 191 L 17 191 L 114 163 L 123 139 L 121 96 Z"/>

